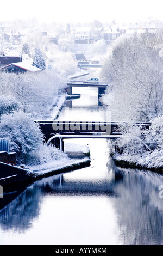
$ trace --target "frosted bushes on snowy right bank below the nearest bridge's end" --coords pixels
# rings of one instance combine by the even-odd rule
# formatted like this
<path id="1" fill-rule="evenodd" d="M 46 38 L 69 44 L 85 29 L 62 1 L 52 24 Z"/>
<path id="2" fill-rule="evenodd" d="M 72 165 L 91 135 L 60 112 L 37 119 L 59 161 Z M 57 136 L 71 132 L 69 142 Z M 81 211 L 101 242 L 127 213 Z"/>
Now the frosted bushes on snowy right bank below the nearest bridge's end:
<path id="1" fill-rule="evenodd" d="M 116 147 L 114 160 L 137 168 L 163 170 L 162 122 L 163 117 L 158 117 L 152 120 L 148 129 L 134 124 L 124 130 L 121 127 L 123 135 L 112 143 Z"/>

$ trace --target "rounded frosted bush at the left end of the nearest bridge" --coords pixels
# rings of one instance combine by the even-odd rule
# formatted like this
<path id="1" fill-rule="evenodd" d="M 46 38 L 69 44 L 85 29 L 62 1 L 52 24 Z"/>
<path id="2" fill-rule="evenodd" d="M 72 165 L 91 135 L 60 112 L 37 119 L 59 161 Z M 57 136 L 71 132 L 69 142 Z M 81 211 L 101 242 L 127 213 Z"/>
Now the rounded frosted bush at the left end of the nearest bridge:
<path id="1" fill-rule="evenodd" d="M 27 154 L 39 150 L 43 135 L 29 114 L 14 111 L 3 114 L 0 119 L 0 136 L 9 138 L 10 150 L 17 153 L 18 163 L 26 160 Z"/>

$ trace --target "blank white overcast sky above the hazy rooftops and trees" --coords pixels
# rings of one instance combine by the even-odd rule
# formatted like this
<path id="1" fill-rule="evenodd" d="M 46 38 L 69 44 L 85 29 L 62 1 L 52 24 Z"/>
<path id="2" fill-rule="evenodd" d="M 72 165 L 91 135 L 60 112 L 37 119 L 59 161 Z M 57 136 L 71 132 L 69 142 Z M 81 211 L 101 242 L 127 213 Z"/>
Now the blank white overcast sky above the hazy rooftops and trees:
<path id="1" fill-rule="evenodd" d="M 40 22 L 133 22 L 152 16 L 163 20 L 162 0 L 8 0 L 0 21 L 36 17 Z"/>

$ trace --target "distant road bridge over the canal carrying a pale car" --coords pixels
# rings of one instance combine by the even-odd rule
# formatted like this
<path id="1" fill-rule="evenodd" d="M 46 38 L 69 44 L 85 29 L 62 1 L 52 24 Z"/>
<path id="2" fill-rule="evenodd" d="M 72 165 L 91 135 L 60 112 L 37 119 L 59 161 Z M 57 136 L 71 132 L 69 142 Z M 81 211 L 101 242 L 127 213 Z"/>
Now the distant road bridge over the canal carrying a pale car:
<path id="1" fill-rule="evenodd" d="M 69 95 L 72 95 L 72 87 L 95 87 L 98 88 L 98 96 L 101 96 L 105 93 L 105 90 L 109 87 L 112 87 L 111 81 L 99 81 L 99 82 L 89 82 L 89 81 L 75 81 L 69 80 L 67 81 L 66 92 Z"/>

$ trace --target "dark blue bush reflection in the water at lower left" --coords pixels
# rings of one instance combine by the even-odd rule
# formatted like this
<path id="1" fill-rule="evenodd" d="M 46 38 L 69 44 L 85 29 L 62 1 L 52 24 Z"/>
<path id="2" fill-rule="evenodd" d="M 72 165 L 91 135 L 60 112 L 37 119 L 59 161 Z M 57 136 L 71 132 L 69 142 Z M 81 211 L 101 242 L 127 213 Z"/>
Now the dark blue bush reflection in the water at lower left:
<path id="1" fill-rule="evenodd" d="M 40 214 L 41 191 L 32 185 L 0 210 L 1 230 L 24 233 Z"/>

